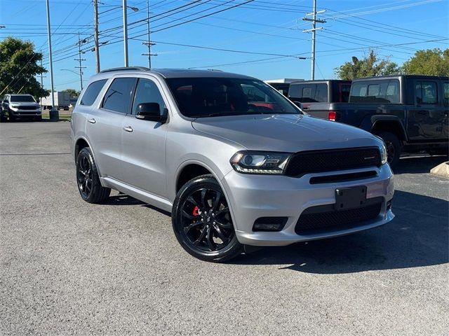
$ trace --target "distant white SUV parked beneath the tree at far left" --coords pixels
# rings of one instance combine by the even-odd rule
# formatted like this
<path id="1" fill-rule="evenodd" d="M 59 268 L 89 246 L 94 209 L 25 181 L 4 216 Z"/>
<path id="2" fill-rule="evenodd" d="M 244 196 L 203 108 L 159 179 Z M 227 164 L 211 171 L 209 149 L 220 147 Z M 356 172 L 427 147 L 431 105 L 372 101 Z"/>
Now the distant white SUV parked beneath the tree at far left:
<path id="1" fill-rule="evenodd" d="M 0 121 L 20 119 L 42 120 L 41 106 L 31 94 L 5 94 L 1 102 Z"/>

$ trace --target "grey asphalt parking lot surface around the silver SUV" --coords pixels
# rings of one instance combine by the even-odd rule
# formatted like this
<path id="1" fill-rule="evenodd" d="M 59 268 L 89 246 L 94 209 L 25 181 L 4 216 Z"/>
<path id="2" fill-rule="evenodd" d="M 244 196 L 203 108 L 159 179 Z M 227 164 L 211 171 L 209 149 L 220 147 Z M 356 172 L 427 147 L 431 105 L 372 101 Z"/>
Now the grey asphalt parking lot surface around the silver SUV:
<path id="1" fill-rule="evenodd" d="M 192 258 L 168 214 L 83 202 L 69 123 L 0 125 L 0 335 L 443 335 L 449 179 L 401 160 L 396 218 L 357 235 Z"/>

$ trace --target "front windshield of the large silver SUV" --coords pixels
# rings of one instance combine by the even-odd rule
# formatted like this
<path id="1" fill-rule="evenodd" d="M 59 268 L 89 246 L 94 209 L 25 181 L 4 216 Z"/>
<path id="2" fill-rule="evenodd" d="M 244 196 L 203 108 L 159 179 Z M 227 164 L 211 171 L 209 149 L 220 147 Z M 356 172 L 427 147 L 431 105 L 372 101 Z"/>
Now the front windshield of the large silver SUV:
<path id="1" fill-rule="evenodd" d="M 183 116 L 298 114 L 293 103 L 261 80 L 243 78 L 168 78 Z"/>

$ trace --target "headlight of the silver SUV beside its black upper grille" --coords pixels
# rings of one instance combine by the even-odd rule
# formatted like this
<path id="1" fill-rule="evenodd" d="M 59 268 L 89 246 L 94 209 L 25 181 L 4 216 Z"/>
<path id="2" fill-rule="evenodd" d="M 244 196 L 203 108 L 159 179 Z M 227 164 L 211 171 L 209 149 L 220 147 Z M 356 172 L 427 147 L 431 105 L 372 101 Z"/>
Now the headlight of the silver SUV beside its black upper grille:
<path id="1" fill-rule="evenodd" d="M 239 151 L 230 162 L 236 172 L 244 174 L 281 175 L 286 169 L 290 153 Z"/>

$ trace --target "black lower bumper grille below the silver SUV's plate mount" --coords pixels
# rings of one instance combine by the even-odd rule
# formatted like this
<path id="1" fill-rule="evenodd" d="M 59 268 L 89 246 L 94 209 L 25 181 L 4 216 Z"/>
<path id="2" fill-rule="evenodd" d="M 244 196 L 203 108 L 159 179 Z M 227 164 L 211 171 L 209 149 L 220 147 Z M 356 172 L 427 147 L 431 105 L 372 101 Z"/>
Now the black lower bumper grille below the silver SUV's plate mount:
<path id="1" fill-rule="evenodd" d="M 322 212 L 320 208 L 323 209 Z M 379 216 L 381 208 L 382 202 L 343 211 L 330 210 L 328 206 L 311 207 L 302 212 L 295 232 L 297 235 L 307 235 L 326 230 L 354 228 Z"/>

